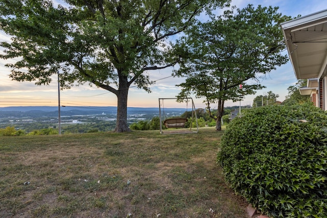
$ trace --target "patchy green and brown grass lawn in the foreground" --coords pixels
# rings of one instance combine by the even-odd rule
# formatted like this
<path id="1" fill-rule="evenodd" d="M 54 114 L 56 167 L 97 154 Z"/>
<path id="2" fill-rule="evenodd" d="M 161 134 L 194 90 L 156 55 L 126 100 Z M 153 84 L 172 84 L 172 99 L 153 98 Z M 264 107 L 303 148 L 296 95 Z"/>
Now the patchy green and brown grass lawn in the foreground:
<path id="1" fill-rule="evenodd" d="M 0 137 L 0 217 L 248 217 L 216 164 L 222 134 Z"/>

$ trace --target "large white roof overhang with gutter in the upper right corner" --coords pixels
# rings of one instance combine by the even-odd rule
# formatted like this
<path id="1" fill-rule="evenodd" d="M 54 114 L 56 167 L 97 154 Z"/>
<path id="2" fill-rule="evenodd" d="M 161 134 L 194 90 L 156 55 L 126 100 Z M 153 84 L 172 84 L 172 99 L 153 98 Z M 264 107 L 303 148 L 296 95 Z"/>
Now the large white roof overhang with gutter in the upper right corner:
<path id="1" fill-rule="evenodd" d="M 297 79 L 321 78 L 327 72 L 327 9 L 281 24 Z"/>

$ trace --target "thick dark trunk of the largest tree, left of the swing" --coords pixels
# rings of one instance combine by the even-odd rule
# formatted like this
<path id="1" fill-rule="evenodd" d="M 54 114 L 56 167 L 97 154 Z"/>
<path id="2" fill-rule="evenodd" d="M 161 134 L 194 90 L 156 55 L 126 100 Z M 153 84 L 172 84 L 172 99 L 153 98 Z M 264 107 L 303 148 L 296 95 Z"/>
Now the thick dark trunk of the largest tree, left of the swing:
<path id="1" fill-rule="evenodd" d="M 125 79 L 125 78 L 124 78 Z M 124 85 L 125 80 L 120 80 L 120 88 L 117 93 L 117 120 L 116 128 L 114 132 L 130 132 L 131 130 L 127 124 L 127 96 L 128 96 L 128 86 L 127 78 L 126 84 Z"/>

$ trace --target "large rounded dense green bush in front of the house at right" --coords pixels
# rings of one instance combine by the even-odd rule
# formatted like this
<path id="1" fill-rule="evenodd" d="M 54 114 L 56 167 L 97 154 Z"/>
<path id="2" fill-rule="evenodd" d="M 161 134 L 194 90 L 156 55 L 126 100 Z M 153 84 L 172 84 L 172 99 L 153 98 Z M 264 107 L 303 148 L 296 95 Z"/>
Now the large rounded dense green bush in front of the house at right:
<path id="1" fill-rule="evenodd" d="M 227 127 L 217 160 L 228 185 L 263 213 L 326 217 L 327 114 L 312 104 L 246 111 Z"/>

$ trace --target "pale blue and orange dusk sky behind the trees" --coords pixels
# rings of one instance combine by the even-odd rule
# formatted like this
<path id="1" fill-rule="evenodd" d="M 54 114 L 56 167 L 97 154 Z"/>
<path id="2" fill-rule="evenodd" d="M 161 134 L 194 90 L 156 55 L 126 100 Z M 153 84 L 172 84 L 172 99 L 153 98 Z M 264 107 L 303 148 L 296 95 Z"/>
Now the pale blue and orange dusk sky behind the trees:
<path id="1" fill-rule="evenodd" d="M 54 1 L 57 5 L 58 2 Z M 327 8 L 327 4 L 321 0 L 273 0 L 273 1 L 232 1 L 231 5 L 236 5 L 238 8 L 244 8 L 248 4 L 253 4 L 254 7 L 259 4 L 262 6 L 278 6 L 278 12 L 283 15 L 296 17 L 297 15 L 308 15 Z M 218 11 L 221 13 L 223 10 Z M 218 15 L 218 14 L 217 14 Z M 0 41 L 10 41 L 10 36 L 5 35 L 0 31 Z M 2 49 L 0 48 L 0 52 Z M 285 51 L 285 54 L 287 52 Z M 0 107 L 9 106 L 58 106 L 58 85 L 57 77 L 54 77 L 53 82 L 49 86 L 36 86 L 34 82 L 17 82 L 11 81 L 9 78 L 10 68 L 5 67 L 9 61 L 0 59 Z M 175 98 L 179 93 L 179 88 L 176 84 L 184 81 L 183 78 L 173 78 L 171 76 L 173 68 L 166 68 L 157 71 L 147 72 L 153 81 L 156 81 L 151 86 L 151 93 L 143 89 L 132 87 L 128 95 L 128 107 L 158 107 L 158 98 Z M 168 77 L 168 78 L 167 78 Z M 165 79 L 166 78 L 166 79 Z M 287 88 L 297 82 L 293 67 L 290 61 L 271 71 L 266 76 L 266 79 L 261 81 L 261 84 L 267 88 L 258 90 L 254 95 L 247 95 L 241 105 L 252 105 L 253 99 L 257 95 L 262 95 L 268 91 L 272 91 L 279 95 L 278 101 L 284 101 L 288 91 Z M 133 86 L 133 85 L 132 85 Z M 60 91 L 61 105 L 65 106 L 116 106 L 116 96 L 111 92 L 90 87 L 88 84 L 75 86 L 68 90 Z M 196 108 L 204 108 L 203 99 L 195 99 L 192 96 Z M 165 103 L 166 104 L 166 103 Z M 226 102 L 225 106 L 240 105 L 239 102 Z M 173 101 L 171 104 L 167 102 L 167 107 L 180 107 Z"/>

